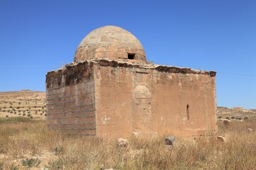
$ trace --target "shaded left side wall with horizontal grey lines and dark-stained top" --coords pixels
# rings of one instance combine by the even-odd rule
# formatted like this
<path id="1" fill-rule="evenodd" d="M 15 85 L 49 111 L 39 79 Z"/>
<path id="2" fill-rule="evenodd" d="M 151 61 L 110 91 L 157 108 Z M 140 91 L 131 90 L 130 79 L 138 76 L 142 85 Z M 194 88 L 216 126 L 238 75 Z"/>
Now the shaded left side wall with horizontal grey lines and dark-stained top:
<path id="1" fill-rule="evenodd" d="M 49 130 L 96 135 L 92 63 L 69 65 L 46 74 Z"/>

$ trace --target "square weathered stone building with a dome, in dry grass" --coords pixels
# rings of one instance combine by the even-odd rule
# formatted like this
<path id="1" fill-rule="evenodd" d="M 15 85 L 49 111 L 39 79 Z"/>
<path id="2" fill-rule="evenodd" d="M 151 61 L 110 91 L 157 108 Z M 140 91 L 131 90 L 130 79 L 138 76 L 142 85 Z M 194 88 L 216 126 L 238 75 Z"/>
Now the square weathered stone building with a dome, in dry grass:
<path id="1" fill-rule="evenodd" d="M 198 136 L 216 129 L 215 72 L 147 64 L 137 38 L 92 30 L 74 62 L 46 74 L 50 130 L 99 137 Z"/>

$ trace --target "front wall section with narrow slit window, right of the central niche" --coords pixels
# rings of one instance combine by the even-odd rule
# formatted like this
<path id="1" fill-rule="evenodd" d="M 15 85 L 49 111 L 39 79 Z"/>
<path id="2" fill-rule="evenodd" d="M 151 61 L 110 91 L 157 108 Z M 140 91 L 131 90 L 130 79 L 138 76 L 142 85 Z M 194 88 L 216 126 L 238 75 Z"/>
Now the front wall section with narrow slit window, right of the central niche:
<path id="1" fill-rule="evenodd" d="M 156 132 L 203 135 L 215 130 L 215 77 L 154 70 L 148 81 Z"/>

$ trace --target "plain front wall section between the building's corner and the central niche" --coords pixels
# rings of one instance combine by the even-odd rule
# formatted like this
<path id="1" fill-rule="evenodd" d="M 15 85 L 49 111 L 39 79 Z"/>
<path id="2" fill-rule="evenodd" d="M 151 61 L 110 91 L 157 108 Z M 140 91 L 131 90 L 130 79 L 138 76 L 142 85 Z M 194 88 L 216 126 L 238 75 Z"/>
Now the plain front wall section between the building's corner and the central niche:
<path id="1" fill-rule="evenodd" d="M 114 65 L 115 62 L 111 64 Z M 97 136 L 127 137 L 132 133 L 134 84 L 132 72 L 126 71 L 126 67 L 95 64 Z"/>

